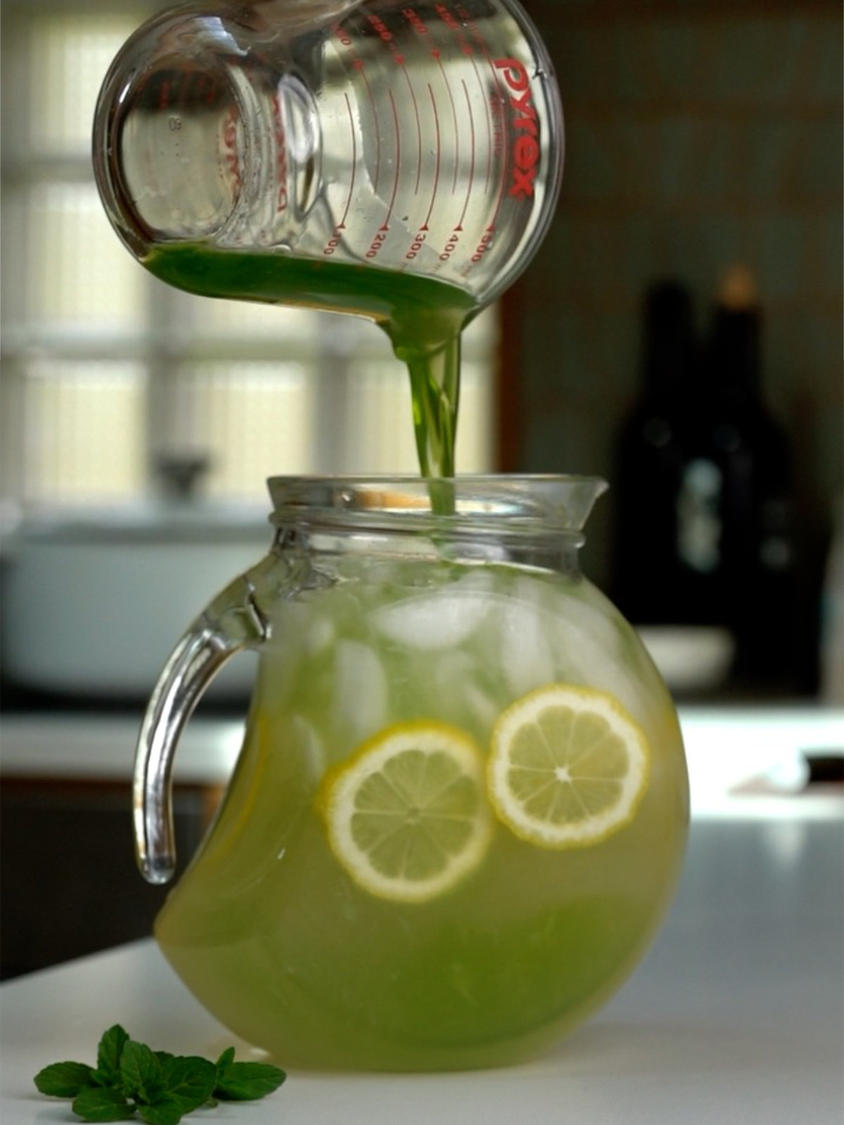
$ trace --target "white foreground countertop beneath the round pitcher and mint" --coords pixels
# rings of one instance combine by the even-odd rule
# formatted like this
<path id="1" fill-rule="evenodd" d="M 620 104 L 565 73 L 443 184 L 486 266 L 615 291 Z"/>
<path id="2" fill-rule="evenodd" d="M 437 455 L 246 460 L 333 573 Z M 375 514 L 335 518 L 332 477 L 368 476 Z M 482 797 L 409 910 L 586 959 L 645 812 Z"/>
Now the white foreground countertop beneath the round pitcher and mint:
<path id="1" fill-rule="evenodd" d="M 465 1074 L 294 1072 L 264 1101 L 186 1120 L 841 1125 L 843 888 L 841 817 L 698 820 L 677 899 L 650 953 L 550 1055 Z M 0 989 L 2 1125 L 70 1120 L 68 1102 L 37 1095 L 33 1076 L 53 1061 L 93 1062 L 113 1023 L 177 1053 L 242 1047 L 152 942 L 35 973 Z"/>

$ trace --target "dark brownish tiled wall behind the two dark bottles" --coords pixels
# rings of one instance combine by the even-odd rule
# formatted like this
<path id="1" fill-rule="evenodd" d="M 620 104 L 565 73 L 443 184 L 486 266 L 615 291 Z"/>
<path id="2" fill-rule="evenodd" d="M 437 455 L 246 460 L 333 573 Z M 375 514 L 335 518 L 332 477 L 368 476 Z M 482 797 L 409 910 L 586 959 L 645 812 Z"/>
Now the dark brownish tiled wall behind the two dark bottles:
<path id="1" fill-rule="evenodd" d="M 566 169 L 517 295 L 521 424 L 506 467 L 608 475 L 645 287 L 685 280 L 702 327 L 721 270 L 742 261 L 765 313 L 766 397 L 828 511 L 843 472 L 841 6 L 524 7 L 557 69 Z M 610 512 L 590 528 L 599 572 Z"/>

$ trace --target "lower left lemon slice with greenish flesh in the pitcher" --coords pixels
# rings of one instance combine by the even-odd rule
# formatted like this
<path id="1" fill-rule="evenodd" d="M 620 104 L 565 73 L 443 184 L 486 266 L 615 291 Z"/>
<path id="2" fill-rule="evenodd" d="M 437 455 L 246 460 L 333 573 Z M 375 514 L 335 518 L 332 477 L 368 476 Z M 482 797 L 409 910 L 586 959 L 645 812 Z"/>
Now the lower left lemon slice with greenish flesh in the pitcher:
<path id="1" fill-rule="evenodd" d="M 323 778 L 331 848 L 371 894 L 425 902 L 476 867 L 494 819 L 484 762 L 463 730 L 439 722 L 385 728 Z"/>

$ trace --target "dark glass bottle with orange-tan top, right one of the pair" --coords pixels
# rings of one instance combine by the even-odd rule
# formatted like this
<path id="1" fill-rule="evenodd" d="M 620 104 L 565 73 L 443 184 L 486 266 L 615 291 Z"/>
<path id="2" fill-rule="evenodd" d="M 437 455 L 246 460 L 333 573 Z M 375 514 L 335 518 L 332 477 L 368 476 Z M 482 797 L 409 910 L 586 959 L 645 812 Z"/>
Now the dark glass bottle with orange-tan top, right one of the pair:
<path id="1" fill-rule="evenodd" d="M 719 288 L 690 420 L 677 494 L 686 596 L 699 618 L 733 632 L 737 684 L 787 687 L 796 628 L 791 454 L 764 402 L 762 314 L 742 267 Z"/>

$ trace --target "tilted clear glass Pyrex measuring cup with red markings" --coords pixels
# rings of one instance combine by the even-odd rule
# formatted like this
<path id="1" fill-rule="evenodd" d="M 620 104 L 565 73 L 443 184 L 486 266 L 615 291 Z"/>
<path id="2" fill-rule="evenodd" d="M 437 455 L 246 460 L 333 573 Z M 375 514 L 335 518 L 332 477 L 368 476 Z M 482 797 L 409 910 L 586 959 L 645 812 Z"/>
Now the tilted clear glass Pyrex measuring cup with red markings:
<path id="1" fill-rule="evenodd" d="M 517 0 L 180 6 L 125 44 L 95 120 L 102 200 L 141 260 L 275 251 L 477 304 L 540 242 L 562 158 L 551 64 Z M 210 291 L 196 270 L 168 279 Z"/>

